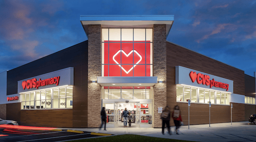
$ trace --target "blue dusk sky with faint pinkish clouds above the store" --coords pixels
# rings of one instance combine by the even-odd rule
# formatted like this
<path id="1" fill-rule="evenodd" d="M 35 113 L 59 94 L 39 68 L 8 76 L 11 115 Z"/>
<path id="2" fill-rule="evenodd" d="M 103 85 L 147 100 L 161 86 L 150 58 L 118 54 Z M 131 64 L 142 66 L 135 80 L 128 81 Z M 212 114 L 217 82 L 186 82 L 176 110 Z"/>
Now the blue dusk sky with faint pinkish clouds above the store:
<path id="1" fill-rule="evenodd" d="M 174 15 L 168 41 L 256 71 L 256 0 L 0 0 L 0 72 L 87 40 L 80 15 Z"/>

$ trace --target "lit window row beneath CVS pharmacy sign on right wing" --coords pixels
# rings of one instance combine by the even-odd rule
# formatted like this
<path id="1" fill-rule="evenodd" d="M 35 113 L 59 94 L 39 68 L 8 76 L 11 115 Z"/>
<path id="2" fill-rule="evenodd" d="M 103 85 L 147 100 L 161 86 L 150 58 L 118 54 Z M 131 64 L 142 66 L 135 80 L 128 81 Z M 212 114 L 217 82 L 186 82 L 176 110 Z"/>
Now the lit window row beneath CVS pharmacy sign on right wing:
<path id="1" fill-rule="evenodd" d="M 176 90 L 177 102 L 190 100 L 195 103 L 230 104 L 230 93 L 178 85 Z"/>

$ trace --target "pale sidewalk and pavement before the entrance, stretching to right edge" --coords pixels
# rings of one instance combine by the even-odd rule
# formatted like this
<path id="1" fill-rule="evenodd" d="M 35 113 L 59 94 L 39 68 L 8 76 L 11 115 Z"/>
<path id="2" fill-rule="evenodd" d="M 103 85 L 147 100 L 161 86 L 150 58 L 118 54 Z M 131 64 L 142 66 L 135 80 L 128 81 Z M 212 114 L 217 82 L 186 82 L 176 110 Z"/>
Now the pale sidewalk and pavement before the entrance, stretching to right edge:
<path id="1" fill-rule="evenodd" d="M 161 128 L 107 128 L 107 131 L 99 131 L 99 128 L 60 128 L 78 131 L 89 131 L 106 134 L 137 134 L 167 139 L 180 139 L 197 142 L 256 142 L 256 125 L 248 124 L 248 121 L 231 123 L 215 123 L 204 125 L 181 126 L 179 135 L 172 126 L 172 135 L 163 135 Z M 165 129 L 165 132 L 167 130 Z"/>

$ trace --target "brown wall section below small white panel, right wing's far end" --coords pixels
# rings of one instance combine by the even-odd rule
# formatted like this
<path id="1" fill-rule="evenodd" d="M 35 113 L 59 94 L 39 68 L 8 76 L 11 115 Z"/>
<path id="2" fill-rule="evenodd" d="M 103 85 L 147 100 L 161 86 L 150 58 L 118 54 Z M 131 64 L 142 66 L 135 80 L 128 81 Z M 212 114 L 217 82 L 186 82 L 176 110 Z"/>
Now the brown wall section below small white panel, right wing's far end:
<path id="1" fill-rule="evenodd" d="M 233 103 L 232 109 L 232 122 L 244 121 L 245 118 L 245 104 L 243 103 Z"/>

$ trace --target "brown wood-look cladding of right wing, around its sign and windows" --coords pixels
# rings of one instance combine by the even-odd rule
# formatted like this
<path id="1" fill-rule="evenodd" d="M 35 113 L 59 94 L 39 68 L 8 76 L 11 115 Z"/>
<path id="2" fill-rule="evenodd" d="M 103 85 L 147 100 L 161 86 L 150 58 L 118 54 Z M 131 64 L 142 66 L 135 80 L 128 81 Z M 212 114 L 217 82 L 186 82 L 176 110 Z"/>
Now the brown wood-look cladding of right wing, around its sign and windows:
<path id="1" fill-rule="evenodd" d="M 188 104 L 176 102 L 176 84 L 175 84 L 175 66 L 183 66 L 193 70 L 206 72 L 221 78 L 227 78 L 234 82 L 234 93 L 244 95 L 244 71 L 227 64 L 216 61 L 212 58 L 203 56 L 194 51 L 180 47 L 178 45 L 166 42 L 166 69 L 167 69 L 167 105 L 172 109 L 178 104 L 181 109 L 184 125 L 188 125 Z M 236 109 L 236 110 L 235 110 Z M 241 113 L 241 106 L 236 107 L 236 113 Z M 240 115 L 241 115 L 240 114 Z M 212 105 L 211 123 L 230 122 L 230 106 Z M 243 117 L 242 117 L 243 118 Z M 235 119 L 240 120 L 240 119 Z M 243 120 L 240 120 L 243 121 Z M 191 104 L 190 107 L 190 124 L 207 124 L 209 123 L 209 105 Z M 171 125 L 174 125 L 171 121 Z"/>

